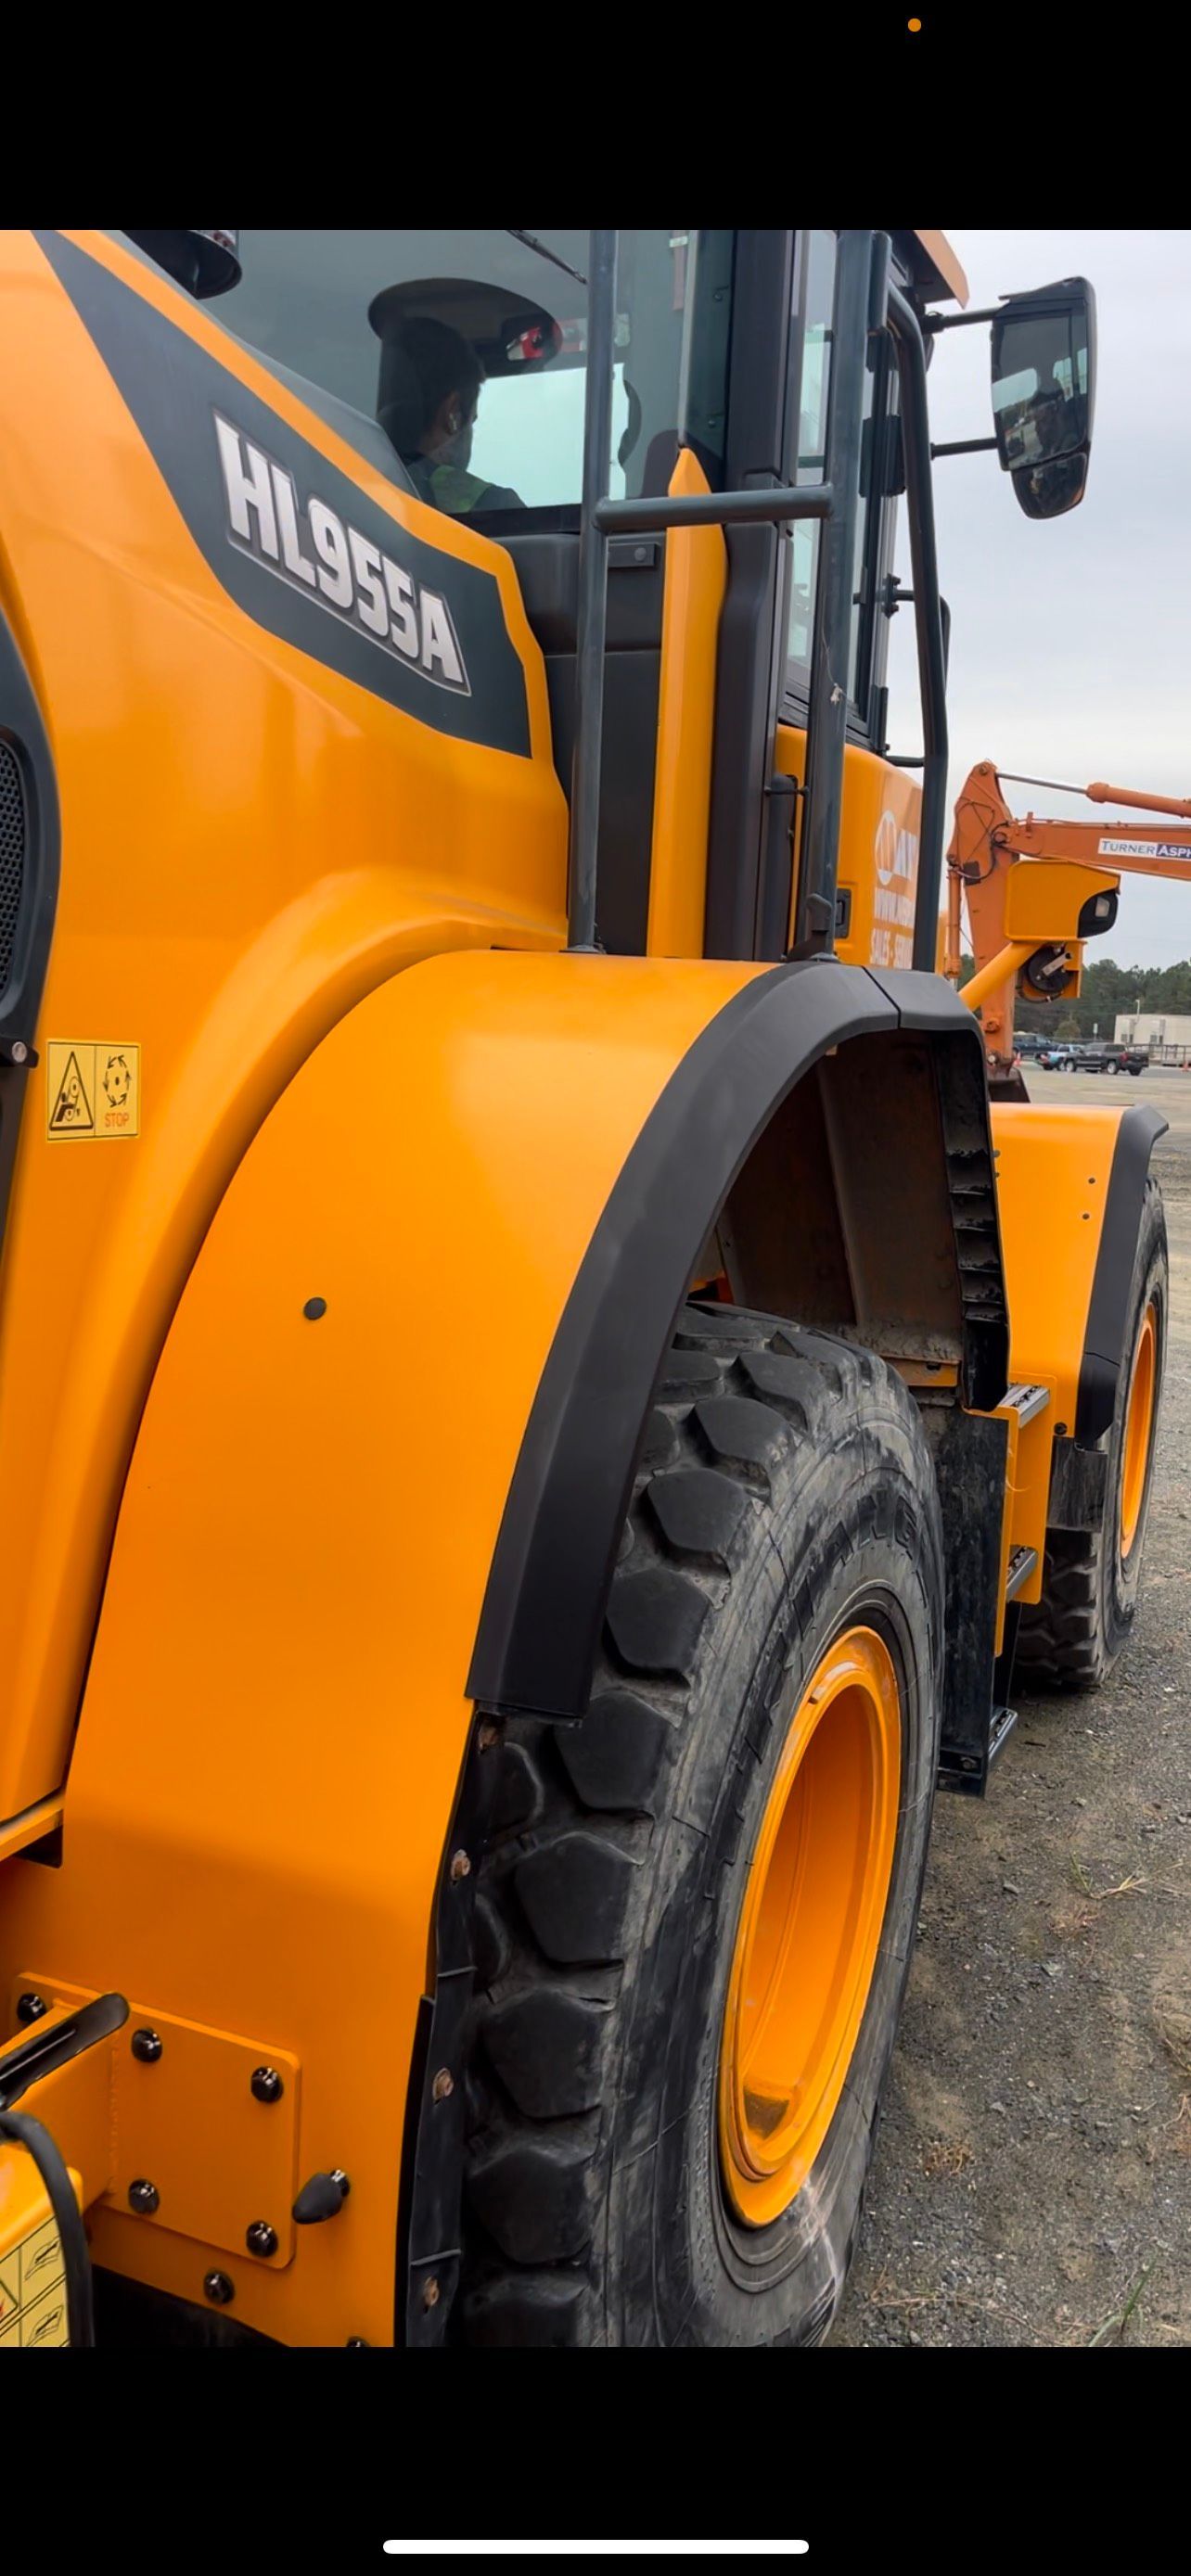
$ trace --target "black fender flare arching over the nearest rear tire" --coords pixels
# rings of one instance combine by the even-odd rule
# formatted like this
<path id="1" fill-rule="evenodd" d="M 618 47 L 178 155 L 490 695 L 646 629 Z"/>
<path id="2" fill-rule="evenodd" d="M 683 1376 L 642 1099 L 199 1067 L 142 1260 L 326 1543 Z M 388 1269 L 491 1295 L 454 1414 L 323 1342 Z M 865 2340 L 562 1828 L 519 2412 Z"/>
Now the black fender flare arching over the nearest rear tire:
<path id="1" fill-rule="evenodd" d="M 941 976 L 907 969 L 809 958 L 755 976 L 675 1066 L 559 1316 L 472 1654 L 467 1687 L 482 1708 L 583 1716 L 652 1391 L 699 1249 L 802 1077 L 853 1038 L 897 1030 L 920 1033 L 941 1066 L 964 1401 L 1000 1401 L 1008 1321 L 977 1020 Z"/>

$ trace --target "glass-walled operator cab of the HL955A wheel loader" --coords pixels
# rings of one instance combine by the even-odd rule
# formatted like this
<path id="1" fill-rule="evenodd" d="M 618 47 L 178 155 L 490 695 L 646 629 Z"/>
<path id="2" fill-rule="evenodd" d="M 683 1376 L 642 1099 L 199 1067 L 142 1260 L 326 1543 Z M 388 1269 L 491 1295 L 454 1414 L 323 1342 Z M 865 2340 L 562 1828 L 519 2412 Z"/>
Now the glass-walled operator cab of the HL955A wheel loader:
<path id="1" fill-rule="evenodd" d="M 369 464 L 510 554 L 547 665 L 554 765 L 570 793 L 588 234 L 245 232 L 237 258 L 240 278 L 219 289 L 214 307 L 219 322 L 299 386 Z M 611 443 L 601 466 L 614 500 L 663 500 L 681 453 L 712 489 L 822 482 L 835 265 L 833 232 L 619 234 Z M 913 291 L 946 286 L 915 234 L 897 237 L 892 273 Z M 461 386 L 449 384 L 451 363 L 467 374 Z M 882 755 L 900 487 L 889 335 L 871 343 L 861 374 L 848 744 L 853 755 Z M 451 394 L 454 435 L 443 422 Z M 629 956 L 650 945 L 668 544 L 650 528 L 611 538 L 606 569 L 598 935 Z M 714 768 L 693 945 L 779 958 L 791 938 L 820 523 L 797 520 L 789 533 L 732 528 L 727 551 L 722 541 L 704 546 L 714 551 Z M 915 778 L 853 757 L 848 804 L 856 829 L 840 860 L 840 956 L 905 966 Z M 665 914 L 663 902 L 652 945 L 665 938 Z"/>

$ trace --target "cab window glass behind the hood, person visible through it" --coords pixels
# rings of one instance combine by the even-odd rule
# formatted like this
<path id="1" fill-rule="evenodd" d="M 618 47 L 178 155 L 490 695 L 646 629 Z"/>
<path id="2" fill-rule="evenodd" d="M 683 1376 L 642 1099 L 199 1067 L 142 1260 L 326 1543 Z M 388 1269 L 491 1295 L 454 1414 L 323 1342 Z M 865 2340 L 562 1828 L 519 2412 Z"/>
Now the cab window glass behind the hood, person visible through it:
<path id="1" fill-rule="evenodd" d="M 585 232 L 240 232 L 240 260 L 211 319 L 436 507 L 580 500 Z M 730 232 L 621 232 L 608 492 L 665 492 L 681 435 L 719 479 L 730 283 Z"/>

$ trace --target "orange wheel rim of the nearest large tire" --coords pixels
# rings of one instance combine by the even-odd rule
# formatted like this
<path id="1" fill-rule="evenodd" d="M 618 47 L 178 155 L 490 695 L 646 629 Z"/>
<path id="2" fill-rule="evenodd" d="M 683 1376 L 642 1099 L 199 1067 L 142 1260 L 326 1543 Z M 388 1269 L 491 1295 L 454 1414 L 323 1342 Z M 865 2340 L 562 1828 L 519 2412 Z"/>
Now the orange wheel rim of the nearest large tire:
<path id="1" fill-rule="evenodd" d="M 732 1958 L 719 2161 L 755 2228 L 791 2205 L 835 2117 L 882 1940 L 900 1772 L 892 1654 L 874 1628 L 848 1628 L 789 1723 Z"/>

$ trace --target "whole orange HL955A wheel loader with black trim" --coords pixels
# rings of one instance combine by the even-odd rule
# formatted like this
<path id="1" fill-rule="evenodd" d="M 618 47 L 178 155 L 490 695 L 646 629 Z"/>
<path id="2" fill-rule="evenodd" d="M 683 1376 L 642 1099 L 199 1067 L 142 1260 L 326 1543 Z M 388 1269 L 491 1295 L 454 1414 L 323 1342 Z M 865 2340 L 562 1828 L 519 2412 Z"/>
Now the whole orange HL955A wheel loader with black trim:
<path id="1" fill-rule="evenodd" d="M 1047 520 L 1090 289 L 0 260 L 0 2344 L 815 2344 L 936 1788 L 1137 1607 L 1160 1121 L 936 971 L 925 361 Z"/>

